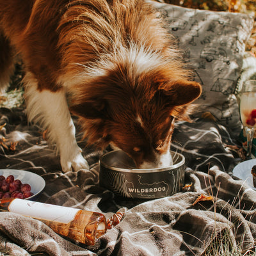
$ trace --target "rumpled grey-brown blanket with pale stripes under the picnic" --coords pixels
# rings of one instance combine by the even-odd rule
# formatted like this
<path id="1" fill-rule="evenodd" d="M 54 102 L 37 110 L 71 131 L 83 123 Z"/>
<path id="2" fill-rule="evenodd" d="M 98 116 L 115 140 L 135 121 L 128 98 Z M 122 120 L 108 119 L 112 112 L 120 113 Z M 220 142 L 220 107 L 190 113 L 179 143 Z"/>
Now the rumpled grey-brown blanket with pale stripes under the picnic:
<path id="1" fill-rule="evenodd" d="M 0 212 L 0 255 L 202 255 L 218 243 L 254 250 L 256 191 L 230 175 L 241 150 L 221 125 L 207 120 L 176 125 L 172 149 L 186 157 L 186 184 L 191 186 L 148 201 L 120 198 L 100 188 L 102 152 L 80 141 L 81 134 L 77 140 L 90 170 L 63 173 L 44 132 L 28 125 L 24 109 L 1 108 L 0 127 L 0 168 L 43 177 L 46 186 L 36 201 L 102 212 L 107 219 L 124 212 L 123 220 L 95 246 L 72 243 L 39 220 Z M 12 143 L 17 145 L 11 148 Z M 198 196 L 209 200 L 196 203 Z"/>

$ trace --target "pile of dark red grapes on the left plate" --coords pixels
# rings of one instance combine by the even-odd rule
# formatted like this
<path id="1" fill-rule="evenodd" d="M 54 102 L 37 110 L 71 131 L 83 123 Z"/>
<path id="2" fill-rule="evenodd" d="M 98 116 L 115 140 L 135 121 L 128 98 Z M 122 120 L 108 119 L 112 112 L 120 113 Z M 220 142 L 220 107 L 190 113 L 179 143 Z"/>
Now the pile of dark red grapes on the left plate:
<path id="1" fill-rule="evenodd" d="M 0 199 L 1 198 L 28 198 L 33 196 L 31 186 L 27 183 L 22 184 L 19 179 L 14 179 L 13 175 L 5 177 L 0 175 Z"/>

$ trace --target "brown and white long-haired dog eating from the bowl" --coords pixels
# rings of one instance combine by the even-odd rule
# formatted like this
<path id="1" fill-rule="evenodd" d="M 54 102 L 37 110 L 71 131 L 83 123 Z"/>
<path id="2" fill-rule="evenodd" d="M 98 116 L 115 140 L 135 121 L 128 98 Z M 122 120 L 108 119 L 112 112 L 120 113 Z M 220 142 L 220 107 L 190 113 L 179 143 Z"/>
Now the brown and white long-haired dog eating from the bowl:
<path id="1" fill-rule="evenodd" d="M 189 81 L 159 13 L 143 0 L 0 0 L 0 85 L 13 58 L 26 68 L 29 121 L 49 131 L 64 172 L 88 167 L 88 143 L 109 143 L 140 168 L 172 162 L 174 120 L 201 92 Z"/>

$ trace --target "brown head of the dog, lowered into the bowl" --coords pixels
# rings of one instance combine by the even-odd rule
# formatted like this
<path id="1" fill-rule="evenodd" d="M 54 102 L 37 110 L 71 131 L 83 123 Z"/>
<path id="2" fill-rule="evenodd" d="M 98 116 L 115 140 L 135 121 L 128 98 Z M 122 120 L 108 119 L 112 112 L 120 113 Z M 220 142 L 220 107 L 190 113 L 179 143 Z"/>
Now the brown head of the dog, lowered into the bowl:
<path id="1" fill-rule="evenodd" d="M 200 93 L 200 84 L 177 78 L 169 69 L 131 76 L 118 67 L 80 89 L 71 111 L 81 117 L 90 143 L 111 143 L 139 168 L 157 168 L 172 163 L 174 122 L 189 119 L 189 103 Z"/>

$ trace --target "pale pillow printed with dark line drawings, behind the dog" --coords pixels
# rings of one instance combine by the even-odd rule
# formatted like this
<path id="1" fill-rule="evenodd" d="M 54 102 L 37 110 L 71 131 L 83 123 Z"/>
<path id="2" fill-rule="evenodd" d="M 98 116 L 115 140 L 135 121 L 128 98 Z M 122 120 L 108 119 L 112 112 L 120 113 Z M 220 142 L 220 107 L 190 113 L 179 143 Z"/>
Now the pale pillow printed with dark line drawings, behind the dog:
<path id="1" fill-rule="evenodd" d="M 218 123 L 238 136 L 242 125 L 235 90 L 253 17 L 152 4 L 163 13 L 167 28 L 178 39 L 184 60 L 195 70 L 194 80 L 202 84 L 202 95 L 195 101 L 199 106 L 194 117 L 210 112 Z"/>

